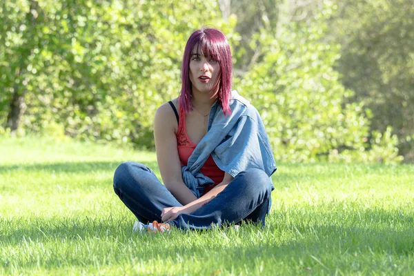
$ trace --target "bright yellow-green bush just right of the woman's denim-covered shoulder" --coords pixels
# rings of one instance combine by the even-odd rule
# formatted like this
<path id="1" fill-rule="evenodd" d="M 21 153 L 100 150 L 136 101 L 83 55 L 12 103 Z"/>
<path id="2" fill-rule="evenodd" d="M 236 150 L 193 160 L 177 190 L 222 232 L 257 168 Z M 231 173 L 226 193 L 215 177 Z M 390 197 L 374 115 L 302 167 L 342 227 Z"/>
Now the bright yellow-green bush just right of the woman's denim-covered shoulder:
<path id="1" fill-rule="evenodd" d="M 320 20 L 320 19 L 319 19 Z M 322 21 L 322 20 L 320 20 Z M 345 104 L 352 92 L 332 68 L 339 47 L 320 41 L 322 22 L 308 28 L 279 26 L 277 36 L 262 30 L 259 62 L 239 85 L 264 119 L 282 161 L 326 159 L 337 150 L 364 150 L 369 122 L 362 104 Z"/>

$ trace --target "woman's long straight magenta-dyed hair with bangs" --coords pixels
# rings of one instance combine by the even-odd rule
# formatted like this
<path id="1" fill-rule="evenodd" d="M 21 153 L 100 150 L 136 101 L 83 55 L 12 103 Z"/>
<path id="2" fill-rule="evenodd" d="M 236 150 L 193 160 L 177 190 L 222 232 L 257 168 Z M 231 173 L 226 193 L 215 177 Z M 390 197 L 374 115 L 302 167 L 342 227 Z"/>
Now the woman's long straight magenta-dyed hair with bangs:
<path id="1" fill-rule="evenodd" d="M 183 63 L 181 68 L 181 92 L 179 104 L 184 108 L 186 114 L 193 110 L 191 103 L 191 81 L 190 81 L 190 56 L 193 49 L 201 50 L 202 55 L 211 57 L 219 62 L 219 91 L 217 101 L 219 101 L 224 115 L 230 114 L 228 105 L 231 97 L 231 78 L 233 74 L 233 61 L 231 57 L 230 45 L 224 34 L 214 28 L 201 28 L 190 35 L 184 50 Z"/>

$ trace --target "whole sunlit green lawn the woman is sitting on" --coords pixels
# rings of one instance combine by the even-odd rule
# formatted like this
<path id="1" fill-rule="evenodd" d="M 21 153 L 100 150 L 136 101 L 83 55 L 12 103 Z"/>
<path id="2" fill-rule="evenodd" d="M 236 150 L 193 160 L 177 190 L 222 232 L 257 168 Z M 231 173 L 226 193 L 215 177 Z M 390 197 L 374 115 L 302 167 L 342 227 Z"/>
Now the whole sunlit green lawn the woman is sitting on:
<path id="1" fill-rule="evenodd" d="M 112 189 L 153 152 L 0 138 L 1 275 L 412 275 L 414 166 L 278 164 L 266 228 L 132 234 Z"/>

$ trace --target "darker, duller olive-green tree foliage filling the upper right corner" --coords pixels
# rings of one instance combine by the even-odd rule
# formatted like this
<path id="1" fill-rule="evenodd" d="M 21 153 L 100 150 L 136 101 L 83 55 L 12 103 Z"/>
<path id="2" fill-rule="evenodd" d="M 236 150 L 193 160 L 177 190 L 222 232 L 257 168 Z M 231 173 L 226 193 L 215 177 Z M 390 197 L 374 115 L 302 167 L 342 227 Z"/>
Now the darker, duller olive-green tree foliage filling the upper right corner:
<path id="1" fill-rule="evenodd" d="M 342 44 L 335 68 L 348 102 L 364 101 L 373 112 L 371 128 L 388 126 L 399 139 L 400 154 L 414 160 L 414 5 L 412 0 L 335 1 L 341 12 L 330 21 L 331 37 Z"/>

